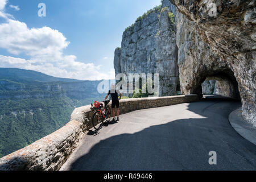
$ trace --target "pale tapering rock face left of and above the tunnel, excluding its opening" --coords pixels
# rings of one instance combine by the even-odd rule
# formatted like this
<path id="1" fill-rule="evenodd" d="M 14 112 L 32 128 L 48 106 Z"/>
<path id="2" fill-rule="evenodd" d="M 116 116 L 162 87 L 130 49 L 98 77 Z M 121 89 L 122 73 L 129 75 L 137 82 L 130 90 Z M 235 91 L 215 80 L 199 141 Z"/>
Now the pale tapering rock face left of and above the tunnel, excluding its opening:
<path id="1" fill-rule="evenodd" d="M 202 94 L 202 82 L 218 73 L 226 73 L 233 78 L 228 63 L 200 38 L 195 22 L 177 13 L 176 26 L 181 92 Z"/>

